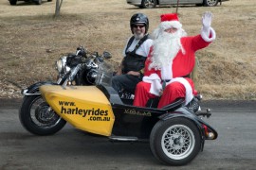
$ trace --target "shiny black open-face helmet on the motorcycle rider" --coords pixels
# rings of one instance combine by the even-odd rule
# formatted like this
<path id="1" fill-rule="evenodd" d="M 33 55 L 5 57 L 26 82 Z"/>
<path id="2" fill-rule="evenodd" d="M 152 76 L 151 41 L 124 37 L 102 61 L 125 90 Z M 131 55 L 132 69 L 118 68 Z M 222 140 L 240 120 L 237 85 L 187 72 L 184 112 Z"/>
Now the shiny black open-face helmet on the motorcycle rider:
<path id="1" fill-rule="evenodd" d="M 130 20 L 130 27 L 131 27 L 131 31 L 133 32 L 133 25 L 136 24 L 144 24 L 145 25 L 145 33 L 148 32 L 149 29 L 149 19 L 148 17 L 143 14 L 143 13 L 136 13 L 132 16 L 131 20 Z"/>

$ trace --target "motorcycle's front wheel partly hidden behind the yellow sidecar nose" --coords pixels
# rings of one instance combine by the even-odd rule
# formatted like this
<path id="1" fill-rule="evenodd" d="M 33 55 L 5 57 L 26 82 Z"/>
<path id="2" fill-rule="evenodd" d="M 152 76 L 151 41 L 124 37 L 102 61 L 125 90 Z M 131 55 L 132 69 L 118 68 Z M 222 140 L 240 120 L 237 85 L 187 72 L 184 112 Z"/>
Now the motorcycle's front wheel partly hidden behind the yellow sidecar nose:
<path id="1" fill-rule="evenodd" d="M 36 135 L 54 134 L 66 123 L 49 107 L 41 95 L 25 96 L 19 118 L 23 127 Z"/>

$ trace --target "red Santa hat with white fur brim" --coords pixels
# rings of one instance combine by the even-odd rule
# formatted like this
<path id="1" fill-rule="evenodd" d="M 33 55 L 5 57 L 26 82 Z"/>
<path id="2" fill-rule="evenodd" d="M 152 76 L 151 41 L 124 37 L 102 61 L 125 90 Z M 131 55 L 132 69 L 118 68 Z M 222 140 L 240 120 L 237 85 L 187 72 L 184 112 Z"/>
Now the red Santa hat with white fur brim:
<path id="1" fill-rule="evenodd" d="M 174 27 L 180 29 L 182 25 L 178 21 L 176 13 L 166 13 L 161 15 L 161 24 L 159 26 L 162 30 Z"/>

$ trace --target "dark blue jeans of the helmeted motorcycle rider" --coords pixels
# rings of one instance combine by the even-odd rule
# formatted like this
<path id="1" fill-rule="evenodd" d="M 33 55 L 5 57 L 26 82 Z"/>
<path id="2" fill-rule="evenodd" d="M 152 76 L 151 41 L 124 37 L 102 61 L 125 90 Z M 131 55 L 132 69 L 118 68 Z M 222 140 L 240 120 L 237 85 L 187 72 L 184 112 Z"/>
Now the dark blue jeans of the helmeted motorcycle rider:
<path id="1" fill-rule="evenodd" d="M 132 75 L 113 76 L 112 87 L 118 93 L 121 93 L 123 90 L 129 93 L 135 93 L 136 85 L 141 80 L 142 79 L 139 76 L 132 76 Z"/>

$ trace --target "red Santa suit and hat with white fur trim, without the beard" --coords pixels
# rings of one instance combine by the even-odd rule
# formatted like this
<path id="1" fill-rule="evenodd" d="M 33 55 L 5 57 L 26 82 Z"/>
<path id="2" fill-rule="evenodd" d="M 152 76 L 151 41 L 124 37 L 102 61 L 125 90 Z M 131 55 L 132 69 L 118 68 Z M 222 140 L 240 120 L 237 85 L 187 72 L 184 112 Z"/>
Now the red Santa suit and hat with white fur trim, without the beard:
<path id="1" fill-rule="evenodd" d="M 163 25 L 160 25 L 160 28 L 175 26 L 181 29 L 176 14 L 162 15 L 161 22 Z M 208 31 L 202 29 L 201 34 L 197 36 L 180 38 L 181 48 L 167 64 L 168 67 L 151 68 L 154 60 L 154 45 L 151 47 L 150 55 L 145 62 L 143 81 L 137 84 L 134 106 L 145 107 L 150 98 L 160 96 L 161 93 L 157 108 L 173 103 L 179 97 L 184 97 L 186 104 L 192 100 L 196 91 L 193 88 L 192 79 L 188 76 L 195 63 L 195 52 L 207 47 L 215 39 L 215 31 L 211 27 Z"/>

